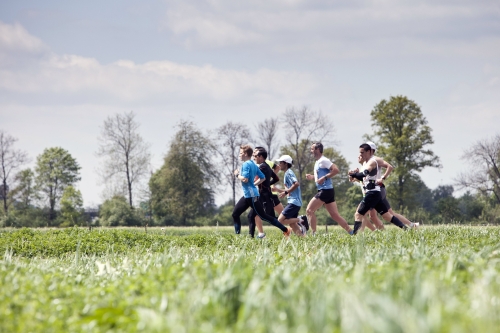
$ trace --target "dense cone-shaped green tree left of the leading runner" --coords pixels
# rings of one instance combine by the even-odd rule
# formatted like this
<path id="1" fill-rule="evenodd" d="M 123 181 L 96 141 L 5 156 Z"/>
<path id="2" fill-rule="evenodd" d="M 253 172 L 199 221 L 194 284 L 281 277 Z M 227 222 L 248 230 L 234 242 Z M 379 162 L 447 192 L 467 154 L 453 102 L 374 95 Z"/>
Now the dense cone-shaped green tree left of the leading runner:
<path id="1" fill-rule="evenodd" d="M 151 205 L 157 219 L 188 225 L 214 207 L 215 147 L 192 122 L 181 121 L 177 127 L 163 166 L 150 179 Z"/>

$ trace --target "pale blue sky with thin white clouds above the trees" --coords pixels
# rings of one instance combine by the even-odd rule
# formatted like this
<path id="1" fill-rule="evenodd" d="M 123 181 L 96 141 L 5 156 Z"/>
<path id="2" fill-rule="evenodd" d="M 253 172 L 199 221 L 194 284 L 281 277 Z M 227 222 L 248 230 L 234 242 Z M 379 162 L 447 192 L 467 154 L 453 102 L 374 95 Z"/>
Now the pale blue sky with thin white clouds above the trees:
<path id="1" fill-rule="evenodd" d="M 102 202 L 95 152 L 116 113 L 134 111 L 157 169 L 180 120 L 253 128 L 305 105 L 333 120 L 355 166 L 370 111 L 396 95 L 433 129 L 442 168 L 422 179 L 452 184 L 463 151 L 500 132 L 500 2 L 0 2 L 0 129 L 26 167 L 68 150 L 85 206 Z"/>

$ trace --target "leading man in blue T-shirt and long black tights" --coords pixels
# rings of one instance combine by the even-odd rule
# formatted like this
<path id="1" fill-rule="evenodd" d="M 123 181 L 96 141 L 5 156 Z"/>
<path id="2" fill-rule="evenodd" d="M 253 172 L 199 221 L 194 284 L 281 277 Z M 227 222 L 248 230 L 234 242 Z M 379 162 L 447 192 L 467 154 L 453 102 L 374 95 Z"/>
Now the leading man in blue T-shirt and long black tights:
<path id="1" fill-rule="evenodd" d="M 236 203 L 233 209 L 233 222 L 234 231 L 236 234 L 241 233 L 241 220 L 240 216 L 249 207 L 252 207 L 255 212 L 264 220 L 275 227 L 283 231 L 285 237 L 289 237 L 291 229 L 285 227 L 281 224 L 275 217 L 269 216 L 264 212 L 261 202 L 259 201 L 259 191 L 256 185 L 259 185 L 265 180 L 264 174 L 259 170 L 257 165 L 250 160 L 253 153 L 252 147 L 249 145 L 244 145 L 240 147 L 240 160 L 243 162 L 240 170 L 234 170 L 234 175 L 241 181 L 241 186 L 243 188 L 243 197 Z M 259 180 L 255 183 L 253 180 L 255 176 L 258 176 Z"/>

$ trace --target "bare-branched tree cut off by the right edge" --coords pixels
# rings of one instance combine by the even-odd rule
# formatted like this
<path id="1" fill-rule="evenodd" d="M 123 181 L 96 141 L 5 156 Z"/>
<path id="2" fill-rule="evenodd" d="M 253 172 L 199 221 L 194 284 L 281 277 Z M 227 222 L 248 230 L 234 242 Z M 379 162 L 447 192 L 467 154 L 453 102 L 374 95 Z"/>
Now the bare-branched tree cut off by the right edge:
<path id="1" fill-rule="evenodd" d="M 493 194 L 500 204 L 500 135 L 476 142 L 462 159 L 471 164 L 469 172 L 455 179 L 460 188 L 471 188 L 483 195 Z"/>

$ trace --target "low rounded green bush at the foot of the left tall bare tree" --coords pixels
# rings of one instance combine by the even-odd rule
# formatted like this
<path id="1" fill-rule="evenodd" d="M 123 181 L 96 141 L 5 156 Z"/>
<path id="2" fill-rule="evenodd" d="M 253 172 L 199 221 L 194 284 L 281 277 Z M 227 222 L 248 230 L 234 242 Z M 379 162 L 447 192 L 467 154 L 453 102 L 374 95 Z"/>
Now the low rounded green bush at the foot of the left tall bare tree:
<path id="1" fill-rule="evenodd" d="M 104 201 L 99 210 L 99 223 L 103 226 L 139 226 L 142 218 L 135 212 L 121 195 Z"/>

